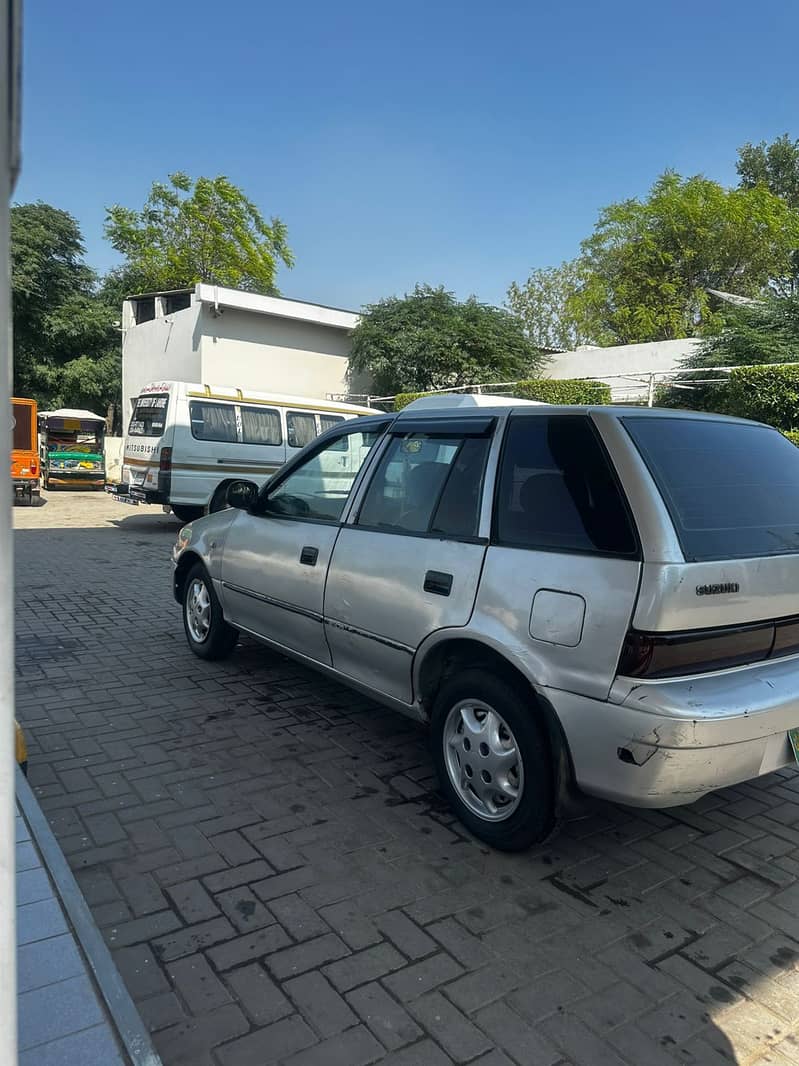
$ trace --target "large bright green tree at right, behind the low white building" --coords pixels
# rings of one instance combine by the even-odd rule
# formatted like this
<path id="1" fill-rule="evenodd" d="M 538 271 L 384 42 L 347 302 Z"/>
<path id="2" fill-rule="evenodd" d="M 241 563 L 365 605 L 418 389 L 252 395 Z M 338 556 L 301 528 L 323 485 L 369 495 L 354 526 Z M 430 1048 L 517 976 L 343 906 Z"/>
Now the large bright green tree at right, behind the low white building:
<path id="1" fill-rule="evenodd" d="M 719 329 L 708 289 L 764 293 L 792 272 L 799 212 L 763 184 L 724 189 L 667 172 L 646 199 L 612 204 L 583 242 L 571 308 L 596 343 Z"/>

